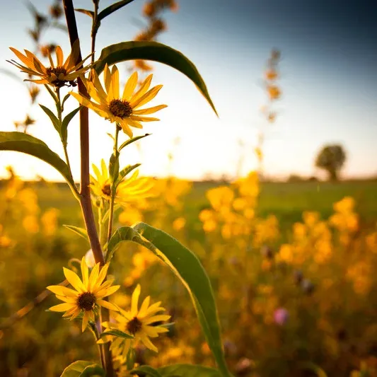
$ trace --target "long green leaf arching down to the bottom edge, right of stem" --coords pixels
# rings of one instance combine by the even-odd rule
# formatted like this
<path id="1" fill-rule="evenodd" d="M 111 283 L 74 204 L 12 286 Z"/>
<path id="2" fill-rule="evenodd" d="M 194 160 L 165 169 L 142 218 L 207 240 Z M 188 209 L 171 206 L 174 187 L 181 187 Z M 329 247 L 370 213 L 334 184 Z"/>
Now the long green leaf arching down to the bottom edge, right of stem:
<path id="1" fill-rule="evenodd" d="M 221 375 L 224 377 L 231 376 L 222 349 L 214 293 L 209 278 L 197 256 L 168 233 L 148 224 L 139 223 L 133 227 L 123 226 L 115 231 L 108 244 L 106 262 L 111 259 L 117 246 L 124 240 L 131 240 L 144 245 L 163 260 L 178 276 L 190 293 L 199 322 Z"/>

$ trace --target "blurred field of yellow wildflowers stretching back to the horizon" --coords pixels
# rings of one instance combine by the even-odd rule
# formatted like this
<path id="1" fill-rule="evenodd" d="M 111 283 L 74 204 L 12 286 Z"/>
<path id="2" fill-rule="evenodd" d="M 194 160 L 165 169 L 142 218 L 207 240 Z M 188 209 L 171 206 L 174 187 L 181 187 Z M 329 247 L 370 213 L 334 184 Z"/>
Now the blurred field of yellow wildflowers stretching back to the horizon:
<path id="1" fill-rule="evenodd" d="M 147 221 L 199 256 L 233 374 L 315 376 L 315 364 L 328 376 L 375 375 L 375 181 L 260 184 L 250 173 L 224 185 L 153 182 L 160 194 L 118 211 L 115 224 Z M 88 350 L 95 359 L 79 321 L 46 312 L 53 296 L 38 300 L 45 286 L 64 280 L 60 265 L 89 248 L 62 227 L 83 226 L 78 204 L 62 184 L 16 176 L 1 182 L 1 201 L 0 375 L 56 376 Z M 124 290 L 112 302 L 127 306 L 137 284 L 149 286 L 152 302 L 163 301 L 173 318 L 155 342 L 158 354 L 141 344 L 137 361 L 213 366 L 190 298 L 173 274 L 131 243 L 115 260 L 111 274 Z"/>

